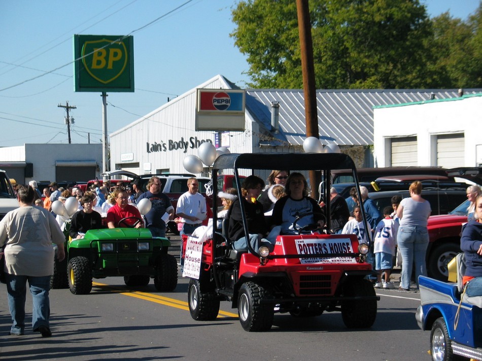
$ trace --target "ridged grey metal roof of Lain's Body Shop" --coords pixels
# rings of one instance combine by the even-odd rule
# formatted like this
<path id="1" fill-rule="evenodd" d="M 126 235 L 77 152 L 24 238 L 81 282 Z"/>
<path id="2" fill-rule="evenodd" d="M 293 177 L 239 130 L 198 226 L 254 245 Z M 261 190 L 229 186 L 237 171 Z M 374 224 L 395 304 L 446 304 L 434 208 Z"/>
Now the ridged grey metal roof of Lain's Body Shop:
<path id="1" fill-rule="evenodd" d="M 316 93 L 320 139 L 325 145 L 335 142 L 341 146 L 373 144 L 374 106 L 459 97 L 457 89 L 317 90 Z M 482 89 L 464 89 L 464 94 L 476 93 L 482 93 Z M 279 133 L 270 132 L 273 101 L 280 104 Z M 303 144 L 306 138 L 303 90 L 247 89 L 246 107 L 253 119 L 271 133 L 266 144 Z"/>

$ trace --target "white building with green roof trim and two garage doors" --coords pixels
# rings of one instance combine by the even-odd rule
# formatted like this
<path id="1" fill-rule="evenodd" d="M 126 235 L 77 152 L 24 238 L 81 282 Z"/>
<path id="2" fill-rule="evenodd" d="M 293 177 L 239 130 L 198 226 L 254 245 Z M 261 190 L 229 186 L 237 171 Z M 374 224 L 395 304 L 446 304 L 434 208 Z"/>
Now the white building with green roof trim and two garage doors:
<path id="1" fill-rule="evenodd" d="M 482 166 L 482 94 L 374 109 L 378 166 Z"/>

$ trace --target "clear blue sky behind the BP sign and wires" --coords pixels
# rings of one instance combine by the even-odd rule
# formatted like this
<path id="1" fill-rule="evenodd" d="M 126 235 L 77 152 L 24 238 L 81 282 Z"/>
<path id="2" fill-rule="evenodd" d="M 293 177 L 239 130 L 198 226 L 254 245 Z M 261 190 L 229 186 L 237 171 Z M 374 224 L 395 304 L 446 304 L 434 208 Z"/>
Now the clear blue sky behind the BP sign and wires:
<path id="1" fill-rule="evenodd" d="M 243 74 L 248 69 L 246 57 L 229 37 L 234 29 L 231 8 L 235 3 L 0 0 L 0 146 L 66 143 L 65 111 L 58 107 L 66 101 L 77 107 L 70 113 L 75 119 L 72 142 L 86 143 L 89 135 L 91 142 L 100 142 L 100 93 L 74 92 L 73 34 L 133 32 L 135 92 L 109 93 L 109 132 L 217 74 L 244 87 L 248 80 Z M 421 3 L 427 6 L 430 16 L 450 11 L 453 17 L 462 19 L 478 6 L 478 0 Z"/>

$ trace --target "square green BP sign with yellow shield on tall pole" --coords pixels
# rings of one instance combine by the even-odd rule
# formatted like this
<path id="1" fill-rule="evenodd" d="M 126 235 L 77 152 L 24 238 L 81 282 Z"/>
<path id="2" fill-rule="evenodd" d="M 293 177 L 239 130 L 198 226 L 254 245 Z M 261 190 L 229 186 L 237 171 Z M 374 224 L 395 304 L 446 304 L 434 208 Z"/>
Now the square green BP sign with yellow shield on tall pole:
<path id="1" fill-rule="evenodd" d="M 75 91 L 133 92 L 133 37 L 74 35 Z"/>

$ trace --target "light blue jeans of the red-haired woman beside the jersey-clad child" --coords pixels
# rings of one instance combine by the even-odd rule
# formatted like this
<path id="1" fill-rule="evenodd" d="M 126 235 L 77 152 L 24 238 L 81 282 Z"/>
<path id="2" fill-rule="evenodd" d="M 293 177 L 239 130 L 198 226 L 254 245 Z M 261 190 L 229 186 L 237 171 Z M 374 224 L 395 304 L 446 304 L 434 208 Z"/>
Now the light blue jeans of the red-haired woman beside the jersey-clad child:
<path id="1" fill-rule="evenodd" d="M 400 226 L 397 234 L 398 249 L 402 255 L 402 273 L 400 287 L 410 288 L 411 269 L 415 261 L 415 281 L 419 285 L 419 276 L 427 275 L 425 255 L 429 237 L 427 227 Z"/>

